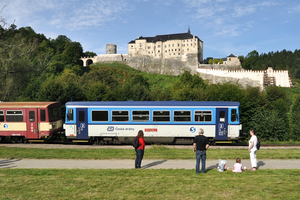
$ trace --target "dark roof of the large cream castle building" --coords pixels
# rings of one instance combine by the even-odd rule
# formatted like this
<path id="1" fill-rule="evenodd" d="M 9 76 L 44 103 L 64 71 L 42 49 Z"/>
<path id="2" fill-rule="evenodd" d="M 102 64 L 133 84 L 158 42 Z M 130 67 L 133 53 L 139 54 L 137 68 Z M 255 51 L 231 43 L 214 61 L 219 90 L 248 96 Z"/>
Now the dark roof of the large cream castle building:
<path id="1" fill-rule="evenodd" d="M 195 36 L 195 38 L 198 38 Z M 138 37 L 135 40 L 146 40 L 146 42 L 159 42 L 159 41 L 168 41 L 168 40 L 185 40 L 185 39 L 193 39 L 193 35 L 191 33 L 185 32 L 185 33 L 176 33 L 176 34 L 168 34 L 168 35 L 157 35 L 155 37 Z M 129 43 L 135 43 L 135 40 L 132 40 Z M 201 41 L 198 38 L 199 41 Z M 202 42 L 202 41 L 201 41 Z"/>

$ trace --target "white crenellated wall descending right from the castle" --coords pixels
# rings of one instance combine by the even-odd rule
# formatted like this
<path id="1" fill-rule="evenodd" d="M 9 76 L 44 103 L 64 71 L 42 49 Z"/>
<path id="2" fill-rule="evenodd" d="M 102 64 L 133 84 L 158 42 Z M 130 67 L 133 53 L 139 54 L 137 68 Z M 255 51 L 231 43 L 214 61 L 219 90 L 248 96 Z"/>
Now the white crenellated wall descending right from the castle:
<path id="1" fill-rule="evenodd" d="M 290 80 L 287 70 L 273 70 L 268 68 L 267 70 L 222 70 L 222 69 L 208 69 L 208 68 L 197 68 L 197 72 L 211 74 L 220 77 L 231 77 L 231 78 L 249 78 L 257 81 L 261 86 L 263 86 L 263 77 L 266 73 L 268 77 L 275 77 L 275 85 L 281 87 L 290 88 Z"/>

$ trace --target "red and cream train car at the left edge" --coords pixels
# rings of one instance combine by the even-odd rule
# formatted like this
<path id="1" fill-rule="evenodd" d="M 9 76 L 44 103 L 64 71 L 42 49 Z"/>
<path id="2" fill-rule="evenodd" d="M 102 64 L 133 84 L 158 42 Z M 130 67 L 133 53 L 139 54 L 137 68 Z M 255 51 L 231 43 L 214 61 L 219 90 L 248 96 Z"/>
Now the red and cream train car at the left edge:
<path id="1" fill-rule="evenodd" d="M 63 128 L 60 102 L 0 102 L 0 139 L 30 141 Z"/>

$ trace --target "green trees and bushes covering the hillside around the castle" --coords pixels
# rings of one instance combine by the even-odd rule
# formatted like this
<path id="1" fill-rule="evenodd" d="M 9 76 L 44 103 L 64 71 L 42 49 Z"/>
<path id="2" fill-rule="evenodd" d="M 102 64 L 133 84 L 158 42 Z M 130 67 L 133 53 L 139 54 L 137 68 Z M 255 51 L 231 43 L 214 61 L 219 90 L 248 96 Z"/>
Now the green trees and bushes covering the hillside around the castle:
<path id="1" fill-rule="evenodd" d="M 260 88 L 242 88 L 238 83 L 208 84 L 187 71 L 178 76 L 150 74 L 123 63 L 94 63 L 83 67 L 79 58 L 96 56 L 96 53 L 83 52 L 79 42 L 64 35 L 52 39 L 31 27 L 17 29 L 7 23 L 8 18 L 1 15 L 2 11 L 1 101 L 59 101 L 63 104 L 71 98 L 75 101 L 237 101 L 242 133 L 256 129 L 261 140 L 300 140 L 297 89 L 267 87 L 261 91 Z M 261 61 L 265 56 L 253 52 L 242 62 L 245 69 L 266 69 L 270 61 L 274 69 L 294 68 L 294 74 L 298 72 L 298 50 L 266 54 L 265 65 Z M 280 61 L 284 53 L 286 59 Z M 253 56 L 256 59 L 252 59 Z M 248 137 L 242 136 L 242 139 Z"/>

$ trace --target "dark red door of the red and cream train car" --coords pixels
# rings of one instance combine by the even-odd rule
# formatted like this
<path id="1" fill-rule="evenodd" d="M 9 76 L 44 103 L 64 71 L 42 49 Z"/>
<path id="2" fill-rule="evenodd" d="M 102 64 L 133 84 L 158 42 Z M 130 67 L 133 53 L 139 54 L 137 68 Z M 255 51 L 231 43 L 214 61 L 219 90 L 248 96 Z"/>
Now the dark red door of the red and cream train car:
<path id="1" fill-rule="evenodd" d="M 37 108 L 26 109 L 26 138 L 37 139 L 38 136 L 38 121 Z"/>

